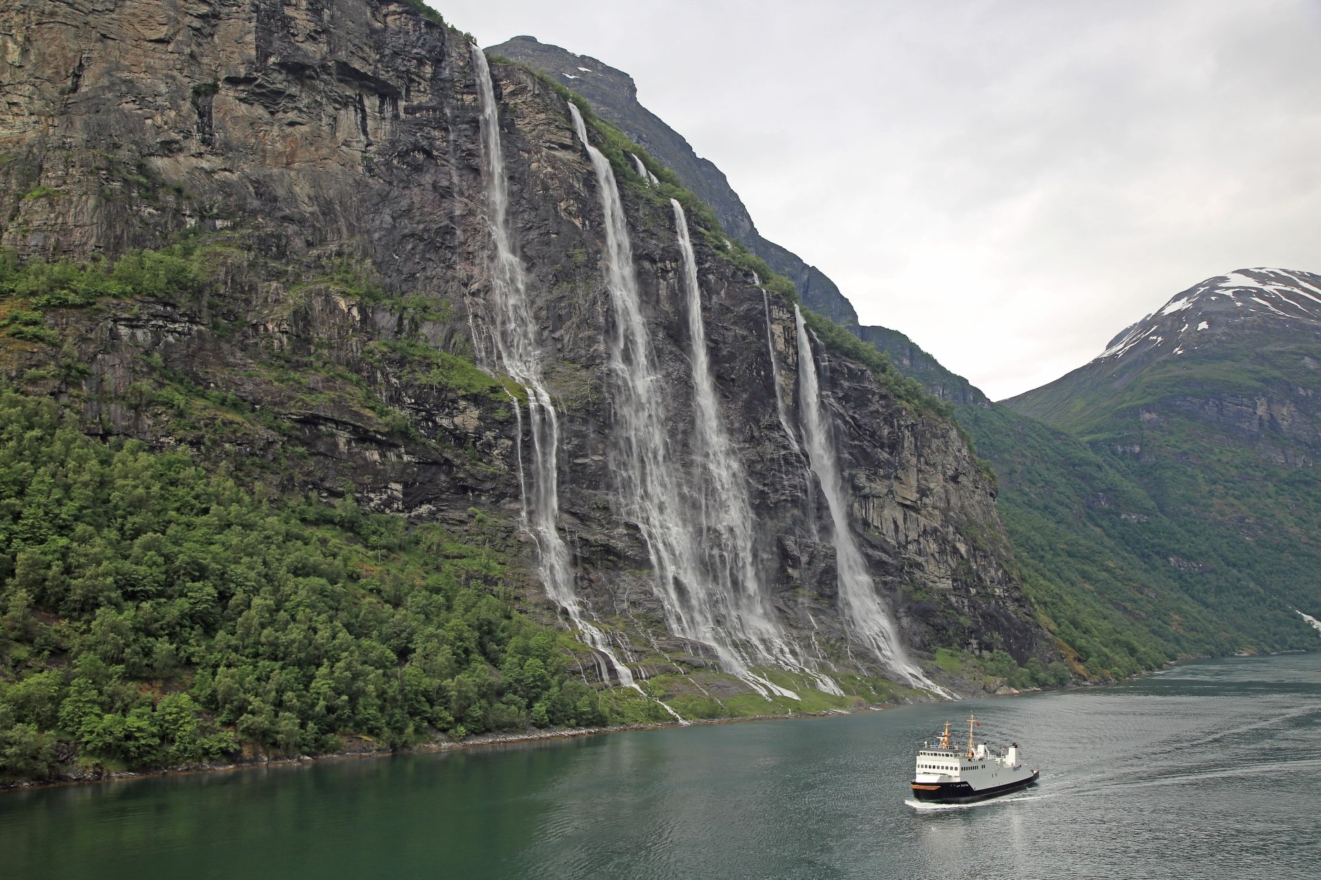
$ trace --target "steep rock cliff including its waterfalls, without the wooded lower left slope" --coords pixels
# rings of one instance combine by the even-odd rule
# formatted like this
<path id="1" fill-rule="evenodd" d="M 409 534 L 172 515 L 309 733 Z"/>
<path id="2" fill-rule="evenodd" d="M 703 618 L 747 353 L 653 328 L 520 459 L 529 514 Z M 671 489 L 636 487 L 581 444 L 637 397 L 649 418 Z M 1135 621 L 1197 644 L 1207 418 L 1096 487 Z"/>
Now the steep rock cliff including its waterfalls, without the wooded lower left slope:
<path id="1" fill-rule="evenodd" d="M 955 425 L 531 73 L 391 0 L 20 0 L 0 41 L 0 243 L 205 276 L 0 303 L 37 315 L 4 375 L 89 433 L 509 548 L 526 574 L 474 588 L 688 716 L 963 686 L 938 648 L 1055 656 Z"/>

